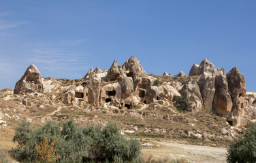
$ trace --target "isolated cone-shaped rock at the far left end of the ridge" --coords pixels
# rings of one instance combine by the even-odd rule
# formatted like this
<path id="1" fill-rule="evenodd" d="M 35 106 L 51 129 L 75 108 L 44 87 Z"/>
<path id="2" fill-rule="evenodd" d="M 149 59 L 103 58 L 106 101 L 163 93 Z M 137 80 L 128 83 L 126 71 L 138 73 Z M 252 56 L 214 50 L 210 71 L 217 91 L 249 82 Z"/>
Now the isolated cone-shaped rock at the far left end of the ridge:
<path id="1" fill-rule="evenodd" d="M 35 65 L 30 65 L 24 75 L 16 82 L 14 94 L 28 94 L 42 92 L 42 77 Z"/>

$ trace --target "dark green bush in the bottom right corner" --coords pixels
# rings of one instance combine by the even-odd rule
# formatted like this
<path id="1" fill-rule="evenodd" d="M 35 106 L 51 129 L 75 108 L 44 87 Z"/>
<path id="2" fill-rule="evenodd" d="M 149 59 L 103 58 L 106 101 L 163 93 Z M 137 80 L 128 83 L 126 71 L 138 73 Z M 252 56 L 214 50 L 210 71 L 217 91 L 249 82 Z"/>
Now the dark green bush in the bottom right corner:
<path id="1" fill-rule="evenodd" d="M 256 124 L 247 127 L 244 138 L 229 145 L 227 162 L 256 162 Z"/>

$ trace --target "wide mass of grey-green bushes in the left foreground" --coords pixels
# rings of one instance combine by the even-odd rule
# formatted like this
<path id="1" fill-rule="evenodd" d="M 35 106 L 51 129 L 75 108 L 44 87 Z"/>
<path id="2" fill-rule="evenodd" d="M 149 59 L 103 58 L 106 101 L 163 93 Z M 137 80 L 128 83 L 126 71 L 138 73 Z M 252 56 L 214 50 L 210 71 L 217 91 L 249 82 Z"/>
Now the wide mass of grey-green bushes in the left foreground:
<path id="1" fill-rule="evenodd" d="M 22 121 L 13 140 L 18 143 L 13 153 L 20 162 L 46 160 L 42 155 L 60 162 L 141 162 L 140 143 L 125 139 L 120 128 L 112 123 L 104 128 L 80 128 L 69 120 L 60 124 L 47 122 L 34 129 L 29 122 Z M 39 145 L 46 150 L 39 150 Z"/>

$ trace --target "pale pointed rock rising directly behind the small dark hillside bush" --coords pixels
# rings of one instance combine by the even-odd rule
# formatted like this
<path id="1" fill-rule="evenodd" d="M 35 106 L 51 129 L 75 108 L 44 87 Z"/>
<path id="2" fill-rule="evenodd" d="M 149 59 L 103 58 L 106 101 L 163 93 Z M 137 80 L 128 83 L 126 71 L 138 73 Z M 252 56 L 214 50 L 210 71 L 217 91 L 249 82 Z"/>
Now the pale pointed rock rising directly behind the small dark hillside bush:
<path id="1" fill-rule="evenodd" d="M 193 79 L 189 79 L 185 85 L 183 86 L 182 90 L 180 90 L 180 94 L 187 98 L 189 101 L 193 102 L 193 109 L 201 109 L 203 99 L 200 93 L 199 86 L 197 82 Z"/>

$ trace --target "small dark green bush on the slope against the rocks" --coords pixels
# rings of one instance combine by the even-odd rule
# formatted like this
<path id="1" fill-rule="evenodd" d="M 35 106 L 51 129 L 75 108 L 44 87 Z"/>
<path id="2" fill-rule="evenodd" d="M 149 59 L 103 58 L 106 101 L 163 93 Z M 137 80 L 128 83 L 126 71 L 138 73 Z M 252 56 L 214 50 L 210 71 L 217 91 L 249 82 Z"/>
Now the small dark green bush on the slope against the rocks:
<path id="1" fill-rule="evenodd" d="M 179 111 L 183 111 L 183 112 L 192 111 L 191 103 L 184 96 L 174 96 L 173 101 L 175 102 L 174 106 Z"/>

